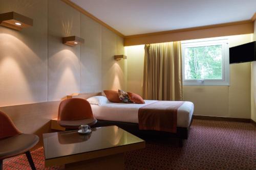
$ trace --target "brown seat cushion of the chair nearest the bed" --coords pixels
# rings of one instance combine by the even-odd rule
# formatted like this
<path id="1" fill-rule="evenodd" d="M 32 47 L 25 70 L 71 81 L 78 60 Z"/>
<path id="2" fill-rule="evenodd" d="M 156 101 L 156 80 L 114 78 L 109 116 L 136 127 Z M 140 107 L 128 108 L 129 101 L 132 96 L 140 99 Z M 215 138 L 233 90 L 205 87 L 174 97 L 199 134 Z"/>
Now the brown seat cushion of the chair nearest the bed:
<path id="1" fill-rule="evenodd" d="M 81 125 L 89 125 L 92 126 L 97 123 L 97 119 L 92 118 L 84 118 L 79 120 L 58 120 L 58 124 L 62 127 L 66 128 L 78 128 Z"/>

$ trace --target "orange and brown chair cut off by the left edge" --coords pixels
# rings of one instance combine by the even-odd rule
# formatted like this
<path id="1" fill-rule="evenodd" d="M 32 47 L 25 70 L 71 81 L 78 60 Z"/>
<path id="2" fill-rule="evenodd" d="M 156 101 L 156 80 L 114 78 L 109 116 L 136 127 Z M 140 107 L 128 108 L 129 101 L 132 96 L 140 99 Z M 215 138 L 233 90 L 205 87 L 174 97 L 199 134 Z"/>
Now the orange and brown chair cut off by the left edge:
<path id="1" fill-rule="evenodd" d="M 33 134 L 23 134 L 17 130 L 12 120 L 0 111 L 0 169 L 3 169 L 3 160 L 26 153 L 29 164 L 34 170 L 35 165 L 30 149 L 36 145 L 39 138 Z"/>

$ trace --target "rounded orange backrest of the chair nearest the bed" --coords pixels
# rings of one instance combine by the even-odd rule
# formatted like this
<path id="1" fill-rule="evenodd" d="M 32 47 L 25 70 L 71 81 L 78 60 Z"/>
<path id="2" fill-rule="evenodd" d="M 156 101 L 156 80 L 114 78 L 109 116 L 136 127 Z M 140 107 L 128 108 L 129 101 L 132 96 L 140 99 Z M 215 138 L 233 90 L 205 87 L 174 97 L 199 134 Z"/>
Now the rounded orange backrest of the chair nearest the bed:
<path id="1" fill-rule="evenodd" d="M 92 108 L 87 100 L 72 98 L 63 100 L 59 104 L 58 120 L 79 120 L 92 117 Z"/>

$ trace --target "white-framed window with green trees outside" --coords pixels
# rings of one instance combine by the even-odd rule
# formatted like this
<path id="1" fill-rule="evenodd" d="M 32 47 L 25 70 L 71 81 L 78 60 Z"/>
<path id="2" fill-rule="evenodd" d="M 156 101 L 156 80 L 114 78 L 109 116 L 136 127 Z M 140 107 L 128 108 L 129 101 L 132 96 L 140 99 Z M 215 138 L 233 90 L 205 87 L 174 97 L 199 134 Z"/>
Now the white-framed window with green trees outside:
<path id="1" fill-rule="evenodd" d="M 229 85 L 228 40 L 182 42 L 183 85 Z"/>

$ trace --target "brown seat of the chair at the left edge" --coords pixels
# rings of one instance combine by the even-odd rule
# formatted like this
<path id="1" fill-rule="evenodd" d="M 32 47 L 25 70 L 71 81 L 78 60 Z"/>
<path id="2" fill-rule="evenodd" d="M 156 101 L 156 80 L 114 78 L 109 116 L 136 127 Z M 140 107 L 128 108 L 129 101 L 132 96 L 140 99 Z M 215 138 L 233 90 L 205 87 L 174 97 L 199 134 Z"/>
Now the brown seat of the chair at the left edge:
<path id="1" fill-rule="evenodd" d="M 9 158 L 29 151 L 39 141 L 33 134 L 19 134 L 0 139 L 0 159 Z"/>

